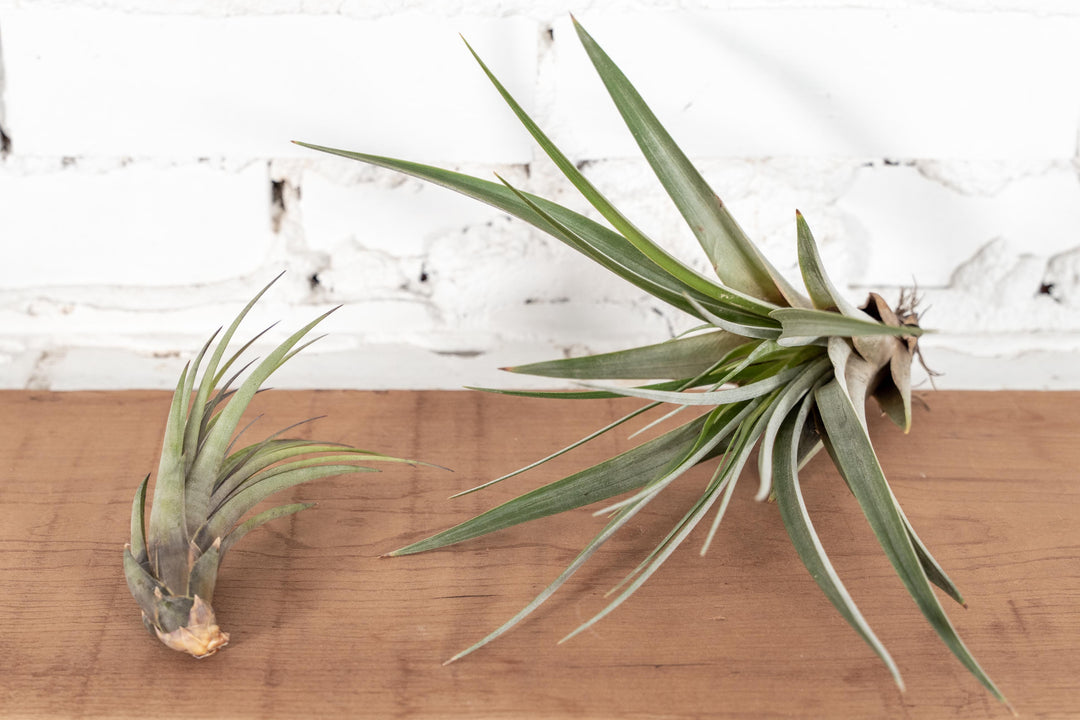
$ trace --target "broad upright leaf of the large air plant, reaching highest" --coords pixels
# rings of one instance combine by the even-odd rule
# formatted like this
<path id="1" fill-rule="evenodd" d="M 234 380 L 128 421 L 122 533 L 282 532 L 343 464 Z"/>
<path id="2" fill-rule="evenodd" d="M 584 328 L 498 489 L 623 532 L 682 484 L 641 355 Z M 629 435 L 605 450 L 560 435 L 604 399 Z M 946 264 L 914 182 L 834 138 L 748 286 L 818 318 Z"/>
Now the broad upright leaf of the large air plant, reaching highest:
<path id="1" fill-rule="evenodd" d="M 720 282 L 775 304 L 804 304 L 798 291 L 754 247 L 626 76 L 577 21 L 573 25 L 642 153 L 690 226 Z"/>

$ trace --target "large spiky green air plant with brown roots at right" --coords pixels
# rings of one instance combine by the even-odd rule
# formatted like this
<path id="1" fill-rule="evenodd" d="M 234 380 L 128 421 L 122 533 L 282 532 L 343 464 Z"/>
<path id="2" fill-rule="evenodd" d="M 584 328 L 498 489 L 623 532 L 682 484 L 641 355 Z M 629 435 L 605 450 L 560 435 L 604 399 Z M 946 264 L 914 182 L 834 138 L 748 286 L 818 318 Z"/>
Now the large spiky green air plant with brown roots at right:
<path id="1" fill-rule="evenodd" d="M 796 214 L 796 237 L 806 295 L 797 290 L 758 252 L 611 58 L 577 21 L 575 27 L 646 160 L 708 257 L 716 279 L 706 277 L 671 256 L 620 213 L 555 147 L 475 52 L 473 55 L 503 99 L 607 226 L 511 187 L 502 178 L 498 182 L 487 181 L 404 160 L 301 144 L 392 168 L 488 203 L 550 233 L 700 322 L 693 331 L 659 344 L 508 368 L 514 372 L 572 379 L 586 385 L 580 392 L 501 391 L 508 394 L 581 399 L 631 396 L 648 404 L 505 477 L 536 467 L 661 406 L 674 409 L 657 422 L 674 420 L 680 410 L 691 406 L 700 408 L 703 415 L 597 465 L 395 551 L 393 555 L 430 551 L 624 495 L 597 513 L 609 517 L 607 525 L 546 589 L 504 625 L 451 660 L 513 627 L 667 486 L 699 463 L 718 459 L 697 502 L 616 588 L 618 595 L 613 600 L 568 637 L 622 603 L 697 526 L 711 517 L 704 543 L 707 548 L 741 471 L 757 448 L 760 477 L 757 499 L 775 500 L 795 549 L 814 581 L 903 689 L 896 664 L 829 562 L 802 499 L 799 468 L 824 447 L 931 626 L 978 681 L 1004 702 L 939 602 L 931 584 L 957 602 L 962 604 L 963 600 L 905 517 L 867 433 L 865 404 L 872 396 L 905 432 L 910 426 L 912 361 L 923 332 L 914 298 L 902 297 L 900 305 L 893 309 L 880 296 L 872 294 L 862 308 L 854 307 L 826 275 L 801 214 Z M 598 384 L 596 380 L 637 380 L 645 384 L 616 386 Z M 504 478 L 491 483 L 501 479 Z"/>

